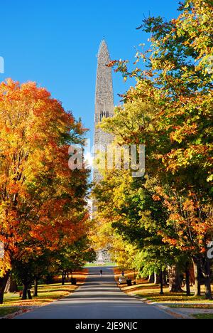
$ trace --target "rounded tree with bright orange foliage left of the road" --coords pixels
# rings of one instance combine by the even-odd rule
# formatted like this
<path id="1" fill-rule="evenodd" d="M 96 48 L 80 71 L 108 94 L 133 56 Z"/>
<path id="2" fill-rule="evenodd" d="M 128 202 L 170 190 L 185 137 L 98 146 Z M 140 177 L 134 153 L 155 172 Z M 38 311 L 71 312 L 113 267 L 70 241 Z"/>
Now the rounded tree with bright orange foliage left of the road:
<path id="1" fill-rule="evenodd" d="M 0 85 L 0 303 L 15 260 L 84 234 L 87 171 L 68 168 L 85 129 L 35 83 Z"/>

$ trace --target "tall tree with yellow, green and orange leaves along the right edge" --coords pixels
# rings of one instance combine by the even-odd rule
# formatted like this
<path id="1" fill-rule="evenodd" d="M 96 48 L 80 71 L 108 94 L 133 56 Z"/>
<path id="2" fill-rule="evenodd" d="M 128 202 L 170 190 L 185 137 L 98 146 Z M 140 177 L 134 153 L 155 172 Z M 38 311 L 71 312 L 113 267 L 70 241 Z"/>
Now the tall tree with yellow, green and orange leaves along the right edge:
<path id="1" fill-rule="evenodd" d="M 167 211 L 155 231 L 193 260 L 195 272 L 202 270 L 211 299 L 212 2 L 189 0 L 179 9 L 171 21 L 144 19 L 138 30 L 151 33 L 151 46 L 136 53 L 136 69 L 111 62 L 125 80 L 136 78 L 136 86 L 101 127 L 120 145 L 146 145 L 146 174 L 157 181 L 153 200 Z"/>

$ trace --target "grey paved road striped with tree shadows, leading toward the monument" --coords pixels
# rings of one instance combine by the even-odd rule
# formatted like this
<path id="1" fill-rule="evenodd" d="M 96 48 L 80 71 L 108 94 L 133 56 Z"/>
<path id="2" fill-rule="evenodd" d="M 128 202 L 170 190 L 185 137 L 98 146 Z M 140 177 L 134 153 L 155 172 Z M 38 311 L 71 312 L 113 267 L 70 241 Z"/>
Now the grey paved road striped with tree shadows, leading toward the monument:
<path id="1" fill-rule="evenodd" d="M 86 283 L 74 294 L 17 319 L 173 319 L 158 307 L 129 297 L 117 287 L 112 268 L 89 268 Z"/>

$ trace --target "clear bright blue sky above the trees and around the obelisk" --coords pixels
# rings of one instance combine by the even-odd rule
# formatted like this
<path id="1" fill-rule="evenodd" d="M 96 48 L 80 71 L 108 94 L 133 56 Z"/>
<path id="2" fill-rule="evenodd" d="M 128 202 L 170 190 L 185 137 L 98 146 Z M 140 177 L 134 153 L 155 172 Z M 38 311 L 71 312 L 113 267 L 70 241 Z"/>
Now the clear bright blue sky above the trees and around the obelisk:
<path id="1" fill-rule="evenodd" d="M 93 137 L 94 92 L 99 43 L 105 36 L 112 59 L 133 59 L 148 36 L 136 31 L 143 14 L 178 16 L 178 0 L 1 1 L 0 80 L 36 81 L 82 117 Z M 114 74 L 115 104 L 124 93 Z"/>

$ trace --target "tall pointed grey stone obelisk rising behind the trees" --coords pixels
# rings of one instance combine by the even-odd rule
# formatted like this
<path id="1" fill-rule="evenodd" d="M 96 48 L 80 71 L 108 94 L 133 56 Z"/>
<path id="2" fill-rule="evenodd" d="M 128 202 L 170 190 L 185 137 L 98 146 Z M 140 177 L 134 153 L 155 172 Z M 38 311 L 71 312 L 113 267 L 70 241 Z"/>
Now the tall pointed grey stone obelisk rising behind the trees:
<path id="1" fill-rule="evenodd" d="M 95 94 L 95 129 L 94 129 L 94 153 L 102 146 L 107 148 L 107 145 L 113 141 L 113 136 L 97 128 L 99 122 L 102 119 L 114 116 L 114 93 L 112 84 L 111 68 L 107 65 L 110 62 L 109 50 L 107 43 L 102 41 L 99 47 L 98 53 L 98 65 L 97 65 L 97 82 L 96 82 L 96 94 Z M 95 156 L 94 156 L 95 157 Z M 102 179 L 101 174 L 95 168 L 93 174 L 94 183 L 99 182 Z"/>

